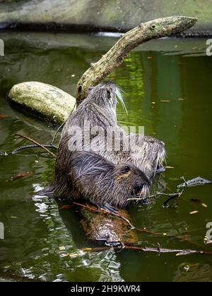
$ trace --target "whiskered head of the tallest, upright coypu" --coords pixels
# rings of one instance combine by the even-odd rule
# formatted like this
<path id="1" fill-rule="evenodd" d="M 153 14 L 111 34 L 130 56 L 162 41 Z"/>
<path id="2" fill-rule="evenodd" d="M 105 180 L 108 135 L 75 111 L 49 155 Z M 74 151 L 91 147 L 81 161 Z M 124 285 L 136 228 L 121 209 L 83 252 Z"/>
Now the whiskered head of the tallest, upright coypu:
<path id="1" fill-rule="evenodd" d="M 126 111 L 122 92 L 112 81 L 107 81 L 95 87 L 89 87 L 88 97 L 86 99 L 87 101 L 94 102 L 102 108 L 110 108 L 113 113 L 115 113 L 117 99 L 119 99 Z"/>

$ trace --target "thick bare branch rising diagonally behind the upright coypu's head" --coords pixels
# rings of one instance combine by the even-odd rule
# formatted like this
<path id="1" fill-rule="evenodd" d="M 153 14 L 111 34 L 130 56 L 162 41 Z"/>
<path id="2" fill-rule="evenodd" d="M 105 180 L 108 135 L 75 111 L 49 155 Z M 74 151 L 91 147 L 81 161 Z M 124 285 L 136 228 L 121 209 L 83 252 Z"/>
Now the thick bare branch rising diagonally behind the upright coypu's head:
<path id="1" fill-rule="evenodd" d="M 119 67 L 124 58 L 131 50 L 139 44 L 151 39 L 176 35 L 189 29 L 197 22 L 197 18 L 185 16 L 170 16 L 141 23 L 133 30 L 126 32 L 114 47 L 100 58 L 97 63 L 91 64 L 90 68 L 83 74 L 76 87 L 77 105 L 87 97 L 88 87 L 97 85 L 103 78 Z"/>

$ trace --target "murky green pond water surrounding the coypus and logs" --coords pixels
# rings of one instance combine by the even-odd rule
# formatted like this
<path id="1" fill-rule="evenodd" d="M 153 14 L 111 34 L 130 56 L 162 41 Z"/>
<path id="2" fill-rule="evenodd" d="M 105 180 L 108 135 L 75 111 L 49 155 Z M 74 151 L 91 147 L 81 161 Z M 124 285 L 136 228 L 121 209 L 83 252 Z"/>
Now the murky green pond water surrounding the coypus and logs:
<path id="1" fill-rule="evenodd" d="M 76 82 L 90 63 L 117 40 L 114 36 L 1 32 L 5 56 L 0 57 L 0 151 L 27 144 L 16 132 L 50 142 L 54 127 L 13 109 L 6 101 L 10 88 L 24 81 L 46 82 L 74 95 Z M 126 115 L 117 108 L 121 125 L 144 126 L 147 135 L 163 140 L 167 166 L 165 192 L 175 192 L 179 178 L 212 179 L 211 111 L 212 57 L 206 39 L 160 39 L 133 51 L 110 75 L 125 92 Z M 36 197 L 47 185 L 54 160 L 37 150 L 0 156 L 0 273 L 50 281 L 211 281 L 212 257 L 112 250 L 83 254 L 88 247 L 78 215 L 59 209 L 54 200 Z M 29 172 L 25 178 L 13 175 Z M 165 197 L 146 206 L 129 206 L 131 221 L 170 235 L 187 235 L 204 245 L 206 224 L 212 221 L 211 186 L 190 187 L 168 209 Z M 191 199 L 200 199 L 194 203 Z M 201 203 L 208 207 L 202 206 Z M 196 214 L 189 214 L 196 211 Z M 189 242 L 138 233 L 148 247 L 191 248 Z M 73 257 L 62 257 L 75 253 Z"/>

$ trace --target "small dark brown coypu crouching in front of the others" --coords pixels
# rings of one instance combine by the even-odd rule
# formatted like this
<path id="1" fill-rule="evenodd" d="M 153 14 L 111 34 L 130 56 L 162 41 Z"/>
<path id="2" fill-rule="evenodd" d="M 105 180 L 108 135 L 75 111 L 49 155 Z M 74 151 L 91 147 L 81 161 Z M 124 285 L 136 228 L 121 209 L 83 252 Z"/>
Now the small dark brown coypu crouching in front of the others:
<path id="1" fill-rule="evenodd" d="M 56 175 L 49 192 L 61 198 L 82 197 L 107 211 L 124 208 L 130 197 L 146 197 L 151 184 L 134 164 L 113 164 L 94 152 L 72 152 L 64 173 Z"/>

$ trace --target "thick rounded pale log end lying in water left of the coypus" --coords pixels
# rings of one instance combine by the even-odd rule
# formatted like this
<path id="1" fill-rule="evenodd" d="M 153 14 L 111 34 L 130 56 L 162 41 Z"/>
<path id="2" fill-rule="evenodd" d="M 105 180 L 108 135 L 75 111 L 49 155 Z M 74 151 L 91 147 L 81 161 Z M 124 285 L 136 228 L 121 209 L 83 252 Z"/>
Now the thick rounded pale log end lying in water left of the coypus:
<path id="1" fill-rule="evenodd" d="M 8 100 L 21 109 L 61 124 L 69 117 L 75 98 L 63 90 L 42 82 L 23 82 L 14 85 Z"/>

